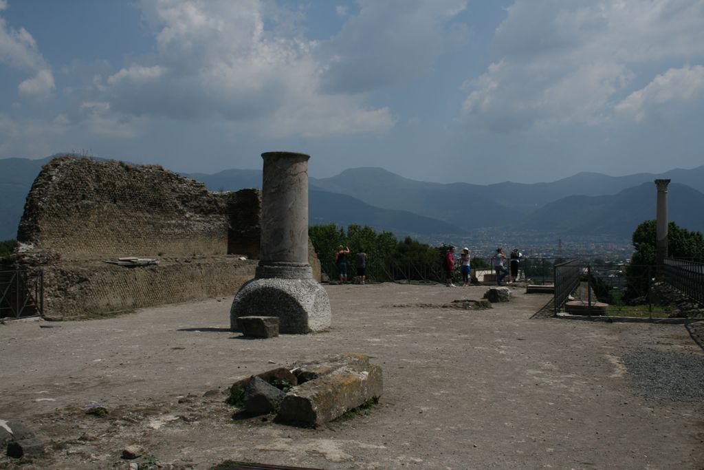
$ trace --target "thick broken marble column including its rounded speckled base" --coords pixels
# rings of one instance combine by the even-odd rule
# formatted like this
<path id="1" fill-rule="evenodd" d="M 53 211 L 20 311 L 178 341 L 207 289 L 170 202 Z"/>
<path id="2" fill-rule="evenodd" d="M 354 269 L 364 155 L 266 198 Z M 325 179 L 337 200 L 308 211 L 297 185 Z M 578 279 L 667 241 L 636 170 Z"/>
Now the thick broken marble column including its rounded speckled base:
<path id="1" fill-rule="evenodd" d="M 330 326 L 327 292 L 308 264 L 308 159 L 306 154 L 262 154 L 260 261 L 253 280 L 237 292 L 230 328 L 240 316 L 278 316 L 280 333 L 311 333 Z"/>

